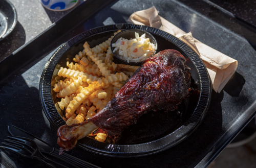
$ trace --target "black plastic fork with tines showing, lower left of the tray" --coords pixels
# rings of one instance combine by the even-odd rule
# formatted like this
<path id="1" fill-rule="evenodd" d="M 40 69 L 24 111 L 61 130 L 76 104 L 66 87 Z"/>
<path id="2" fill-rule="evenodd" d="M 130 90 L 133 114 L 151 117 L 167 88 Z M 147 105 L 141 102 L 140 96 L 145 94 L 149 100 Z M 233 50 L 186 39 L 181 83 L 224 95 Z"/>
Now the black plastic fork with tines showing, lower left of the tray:
<path id="1" fill-rule="evenodd" d="M 8 143 L 2 142 L 2 144 L 5 145 L 6 147 L 0 146 L 0 148 L 14 152 L 23 157 L 40 160 L 41 162 L 45 163 L 46 165 L 52 168 L 66 167 L 42 155 L 41 152 L 38 150 L 38 147 L 34 140 L 19 136 L 7 137 L 9 139 L 5 139 L 5 141 Z"/>

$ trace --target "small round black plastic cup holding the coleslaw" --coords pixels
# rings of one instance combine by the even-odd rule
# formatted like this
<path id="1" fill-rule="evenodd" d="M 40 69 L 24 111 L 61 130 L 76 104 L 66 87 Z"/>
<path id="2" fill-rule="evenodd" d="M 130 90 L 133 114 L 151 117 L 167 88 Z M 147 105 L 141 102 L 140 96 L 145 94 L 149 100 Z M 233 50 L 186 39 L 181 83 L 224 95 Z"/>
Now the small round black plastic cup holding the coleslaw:
<path id="1" fill-rule="evenodd" d="M 136 33 L 139 33 L 139 36 L 142 36 L 143 34 L 146 34 L 146 38 L 149 38 L 150 39 L 150 42 L 151 43 L 153 43 L 153 44 L 155 44 L 155 46 L 156 46 L 156 50 L 155 50 L 155 52 L 154 52 L 154 54 L 156 54 L 156 52 L 157 52 L 157 40 L 155 39 L 155 37 L 152 35 L 152 34 L 150 34 L 150 33 L 148 33 L 148 32 L 145 32 L 145 31 L 142 31 L 142 30 L 137 30 L 137 29 L 129 29 L 129 30 L 123 30 L 123 31 L 121 31 L 121 32 L 119 32 L 119 33 L 117 33 L 115 36 L 114 36 L 114 38 L 111 40 L 111 51 L 112 51 L 112 53 L 115 55 L 115 57 L 116 58 L 118 58 L 119 60 L 121 60 L 121 61 L 123 61 L 125 64 L 127 64 L 127 61 L 126 60 L 123 60 L 123 59 L 121 59 L 120 57 L 119 57 L 119 54 L 118 54 L 118 52 L 113 52 L 113 47 L 112 47 L 112 44 L 113 43 L 115 43 L 119 38 L 125 38 L 125 39 L 128 39 L 128 40 L 130 40 L 131 38 L 135 38 L 135 32 Z M 153 55 L 154 55 L 153 54 Z M 152 55 L 152 56 L 153 56 Z M 141 63 L 142 63 L 143 61 L 141 61 L 141 62 L 131 62 L 131 61 L 129 61 L 129 64 L 133 64 L 133 65 L 141 65 Z"/>

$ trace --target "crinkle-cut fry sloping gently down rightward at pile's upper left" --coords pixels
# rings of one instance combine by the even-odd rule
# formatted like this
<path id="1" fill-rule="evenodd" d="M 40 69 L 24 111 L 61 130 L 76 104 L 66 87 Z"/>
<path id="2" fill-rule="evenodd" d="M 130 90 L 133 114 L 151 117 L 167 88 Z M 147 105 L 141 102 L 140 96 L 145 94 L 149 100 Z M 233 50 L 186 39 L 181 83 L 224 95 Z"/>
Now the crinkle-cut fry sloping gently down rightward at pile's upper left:
<path id="1" fill-rule="evenodd" d="M 58 72 L 58 76 L 62 76 L 65 78 L 78 78 L 81 77 L 83 82 L 87 82 L 88 84 L 94 82 L 94 81 L 98 81 L 100 78 L 97 78 L 93 75 L 90 75 L 88 73 L 83 73 L 80 72 L 78 70 L 71 70 L 71 69 L 67 69 L 67 68 L 60 68 L 59 72 Z"/>

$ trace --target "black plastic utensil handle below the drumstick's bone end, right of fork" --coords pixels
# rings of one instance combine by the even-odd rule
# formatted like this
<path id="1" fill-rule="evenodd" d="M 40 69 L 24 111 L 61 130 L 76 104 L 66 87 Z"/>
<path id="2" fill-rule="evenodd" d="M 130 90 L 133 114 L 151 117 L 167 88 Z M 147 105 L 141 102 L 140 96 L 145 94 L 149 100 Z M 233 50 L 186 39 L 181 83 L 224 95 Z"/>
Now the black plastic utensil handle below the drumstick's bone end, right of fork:
<path id="1" fill-rule="evenodd" d="M 100 168 L 99 166 L 96 166 L 92 163 L 89 163 L 89 162 L 86 162 L 86 161 L 83 161 L 81 159 L 78 159 L 76 157 L 73 157 L 69 154 L 66 154 L 66 153 L 62 153 L 61 155 L 59 155 L 59 150 L 54 148 L 53 152 L 51 153 L 47 153 L 53 157 L 56 157 L 62 161 L 65 161 L 71 165 L 73 165 L 74 167 L 77 167 L 77 168 L 83 168 L 83 167 L 87 167 L 87 168 Z"/>

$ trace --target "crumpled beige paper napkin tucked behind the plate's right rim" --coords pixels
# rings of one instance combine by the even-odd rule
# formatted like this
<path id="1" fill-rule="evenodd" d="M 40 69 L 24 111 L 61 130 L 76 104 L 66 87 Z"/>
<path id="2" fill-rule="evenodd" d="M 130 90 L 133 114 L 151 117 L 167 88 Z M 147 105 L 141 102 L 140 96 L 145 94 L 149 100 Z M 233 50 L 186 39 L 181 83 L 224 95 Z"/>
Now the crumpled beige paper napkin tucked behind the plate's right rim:
<path id="1" fill-rule="evenodd" d="M 203 60 L 215 91 L 220 92 L 238 67 L 238 61 L 212 49 L 208 45 L 193 38 L 191 32 L 185 33 L 163 17 L 158 15 L 153 6 L 149 9 L 133 13 L 128 21 L 136 25 L 145 25 L 172 34 L 191 47 Z"/>

